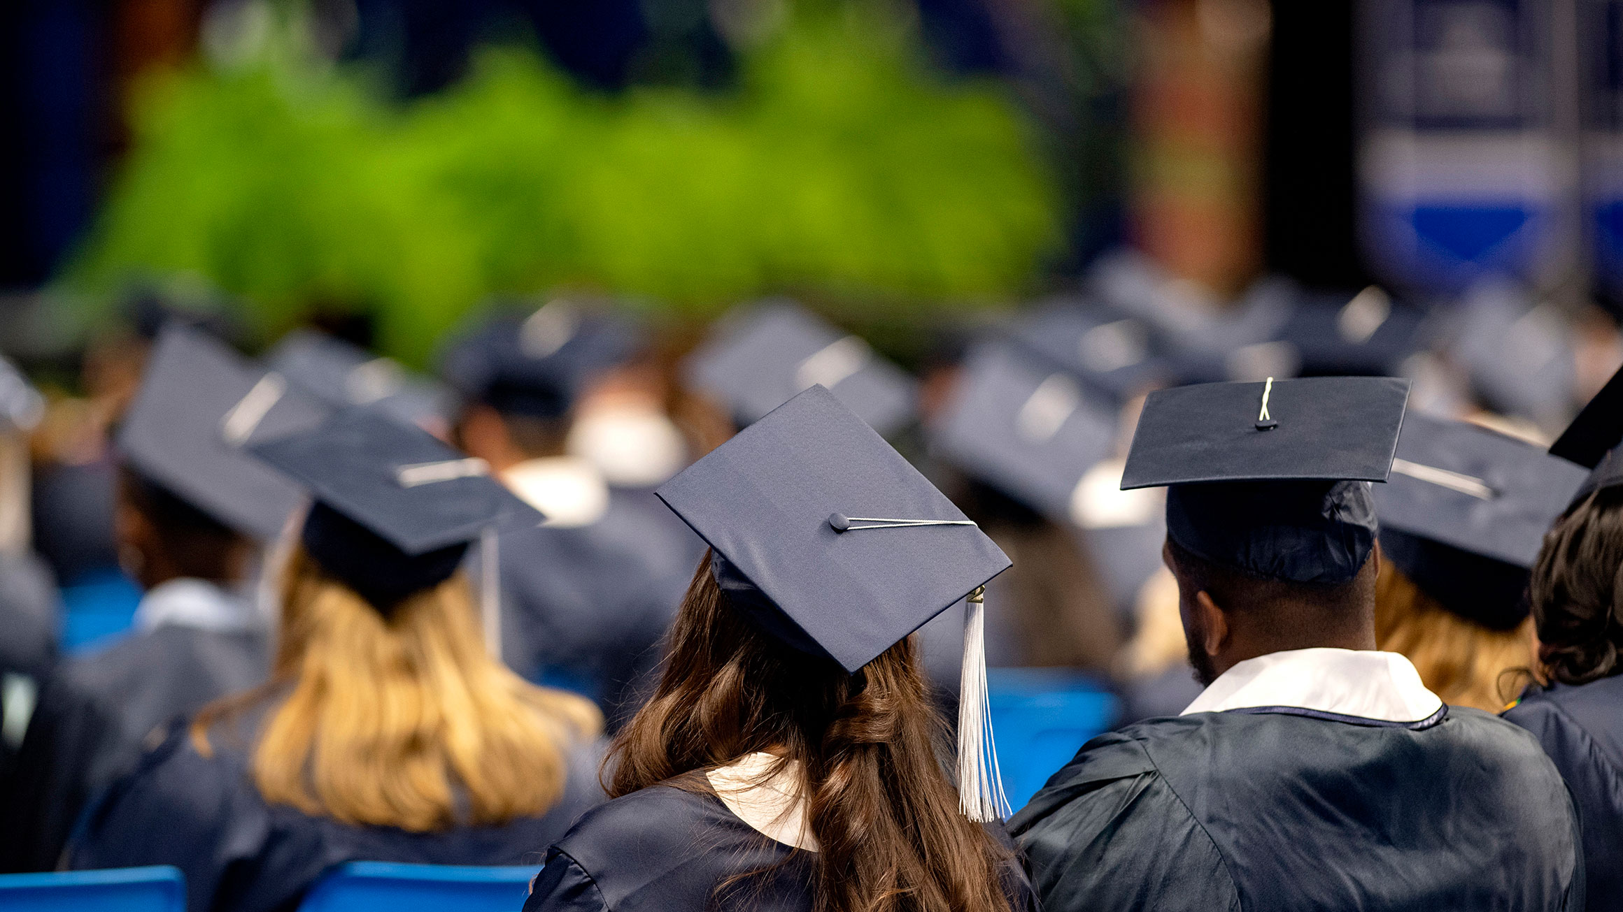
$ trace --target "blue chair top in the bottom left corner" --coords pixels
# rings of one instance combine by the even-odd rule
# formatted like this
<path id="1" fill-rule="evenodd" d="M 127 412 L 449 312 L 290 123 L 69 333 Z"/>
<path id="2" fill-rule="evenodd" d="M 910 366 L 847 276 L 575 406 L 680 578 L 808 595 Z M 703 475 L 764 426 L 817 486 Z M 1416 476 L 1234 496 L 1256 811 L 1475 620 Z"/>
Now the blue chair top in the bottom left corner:
<path id="1" fill-rule="evenodd" d="M 179 868 L 110 868 L 49 875 L 0 875 L 6 912 L 185 912 Z"/>

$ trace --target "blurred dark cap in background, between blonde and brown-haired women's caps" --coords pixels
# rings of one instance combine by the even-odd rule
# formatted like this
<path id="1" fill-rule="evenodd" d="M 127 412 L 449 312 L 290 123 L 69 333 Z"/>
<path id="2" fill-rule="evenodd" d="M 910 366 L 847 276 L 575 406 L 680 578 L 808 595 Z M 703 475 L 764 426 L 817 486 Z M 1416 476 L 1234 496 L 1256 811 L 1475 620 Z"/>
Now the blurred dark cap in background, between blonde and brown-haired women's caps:
<path id="1" fill-rule="evenodd" d="M 440 373 L 466 399 L 500 412 L 563 417 L 591 380 L 644 347 L 612 313 L 557 299 L 532 313 L 503 313 L 446 349 Z"/>

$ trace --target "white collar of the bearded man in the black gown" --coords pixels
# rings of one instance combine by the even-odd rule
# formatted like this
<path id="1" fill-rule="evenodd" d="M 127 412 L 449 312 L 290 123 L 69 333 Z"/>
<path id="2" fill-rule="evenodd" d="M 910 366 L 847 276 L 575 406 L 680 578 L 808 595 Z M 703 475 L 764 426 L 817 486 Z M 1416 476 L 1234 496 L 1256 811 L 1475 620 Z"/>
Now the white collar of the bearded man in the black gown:
<path id="1" fill-rule="evenodd" d="M 1287 649 L 1237 662 L 1183 711 L 1224 712 L 1290 706 L 1381 722 L 1420 722 L 1443 699 L 1397 652 Z"/>

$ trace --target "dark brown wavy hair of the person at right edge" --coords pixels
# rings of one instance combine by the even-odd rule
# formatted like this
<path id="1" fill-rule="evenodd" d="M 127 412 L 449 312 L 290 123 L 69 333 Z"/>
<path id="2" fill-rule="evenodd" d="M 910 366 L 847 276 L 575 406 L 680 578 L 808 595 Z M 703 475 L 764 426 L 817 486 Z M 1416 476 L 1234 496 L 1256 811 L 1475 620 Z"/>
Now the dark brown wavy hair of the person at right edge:
<path id="1" fill-rule="evenodd" d="M 1539 660 L 1579 685 L 1623 672 L 1623 488 L 1579 501 L 1543 539 L 1527 599 Z"/>

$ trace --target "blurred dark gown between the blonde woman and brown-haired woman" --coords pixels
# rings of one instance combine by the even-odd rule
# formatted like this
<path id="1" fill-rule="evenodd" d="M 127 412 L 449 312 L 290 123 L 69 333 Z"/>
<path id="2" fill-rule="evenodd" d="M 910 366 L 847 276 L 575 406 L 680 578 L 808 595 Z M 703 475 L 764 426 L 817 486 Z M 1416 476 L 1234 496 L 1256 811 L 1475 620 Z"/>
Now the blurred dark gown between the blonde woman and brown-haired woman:
<path id="1" fill-rule="evenodd" d="M 659 643 L 693 576 L 691 548 L 618 493 L 589 526 L 503 532 L 502 656 L 532 682 L 592 698 L 610 729 L 659 665 Z"/>

